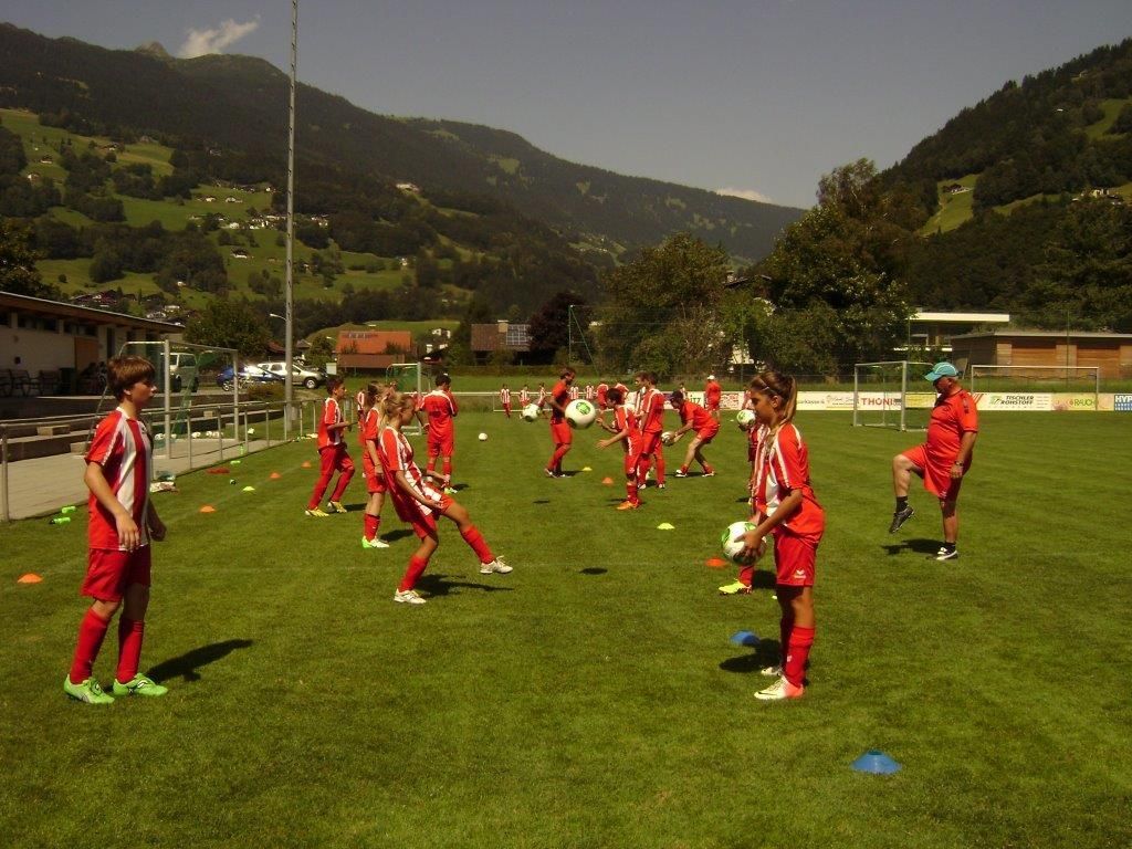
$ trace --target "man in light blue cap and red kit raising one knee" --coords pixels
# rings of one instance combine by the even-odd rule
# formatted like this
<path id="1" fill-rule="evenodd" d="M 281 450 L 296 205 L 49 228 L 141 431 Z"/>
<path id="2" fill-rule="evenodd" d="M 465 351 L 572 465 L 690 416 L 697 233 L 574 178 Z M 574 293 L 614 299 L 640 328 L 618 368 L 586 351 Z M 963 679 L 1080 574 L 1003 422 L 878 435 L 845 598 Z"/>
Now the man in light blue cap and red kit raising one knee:
<path id="1" fill-rule="evenodd" d="M 979 432 L 979 415 L 975 397 L 959 385 L 959 369 L 950 362 L 937 362 L 924 375 L 938 395 L 927 426 L 927 441 L 909 448 L 892 458 L 892 490 L 897 509 L 892 514 L 889 533 L 916 513 L 908 506 L 908 484 L 911 475 L 924 479 L 924 489 L 940 499 L 943 514 L 943 544 L 932 560 L 953 560 L 959 557 L 959 516 L 955 505 L 963 475 L 971 468 L 971 452 Z"/>

